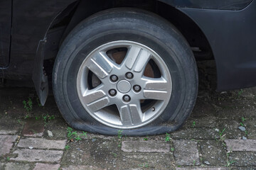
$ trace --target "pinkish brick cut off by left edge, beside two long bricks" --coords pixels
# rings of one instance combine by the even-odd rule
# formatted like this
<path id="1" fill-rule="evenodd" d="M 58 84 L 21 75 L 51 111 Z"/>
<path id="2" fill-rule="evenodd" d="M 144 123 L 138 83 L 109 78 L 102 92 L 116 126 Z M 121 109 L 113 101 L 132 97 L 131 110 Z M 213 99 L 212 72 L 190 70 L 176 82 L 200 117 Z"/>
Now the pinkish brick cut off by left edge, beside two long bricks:
<path id="1" fill-rule="evenodd" d="M 0 157 L 11 152 L 11 147 L 17 137 L 17 135 L 0 135 Z"/>

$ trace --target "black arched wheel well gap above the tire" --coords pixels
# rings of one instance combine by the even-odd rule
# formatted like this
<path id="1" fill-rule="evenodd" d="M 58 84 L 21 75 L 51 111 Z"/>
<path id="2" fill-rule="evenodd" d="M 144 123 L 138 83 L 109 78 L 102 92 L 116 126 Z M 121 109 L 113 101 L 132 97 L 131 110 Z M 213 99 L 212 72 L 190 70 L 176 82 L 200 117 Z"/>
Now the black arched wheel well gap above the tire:
<path id="1" fill-rule="evenodd" d="M 98 11 L 117 7 L 142 8 L 158 14 L 176 26 L 183 34 L 191 46 L 196 60 L 213 59 L 210 44 L 201 29 L 191 18 L 173 6 L 156 0 L 80 0 L 73 2 L 61 11 L 51 23 L 46 33 L 48 45 L 46 46 L 45 60 L 57 55 L 58 48 L 65 37 L 80 21 Z"/>

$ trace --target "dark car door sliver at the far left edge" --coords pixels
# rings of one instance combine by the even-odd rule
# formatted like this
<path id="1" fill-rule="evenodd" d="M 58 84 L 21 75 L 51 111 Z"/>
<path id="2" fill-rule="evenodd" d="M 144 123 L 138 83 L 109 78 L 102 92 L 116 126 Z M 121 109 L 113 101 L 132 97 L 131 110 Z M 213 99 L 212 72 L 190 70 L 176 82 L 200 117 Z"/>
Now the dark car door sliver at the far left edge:
<path id="1" fill-rule="evenodd" d="M 11 0 L 0 1 L 0 68 L 9 64 L 11 43 Z"/>

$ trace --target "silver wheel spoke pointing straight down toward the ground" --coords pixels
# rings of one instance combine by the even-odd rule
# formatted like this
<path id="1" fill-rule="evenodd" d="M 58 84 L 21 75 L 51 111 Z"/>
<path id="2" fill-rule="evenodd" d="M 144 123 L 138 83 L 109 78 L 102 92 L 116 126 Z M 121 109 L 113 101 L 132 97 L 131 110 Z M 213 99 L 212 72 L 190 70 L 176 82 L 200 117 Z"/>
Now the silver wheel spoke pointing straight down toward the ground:
<path id="1" fill-rule="evenodd" d="M 142 123 L 142 110 L 140 104 L 129 104 L 119 107 L 119 113 L 123 125 L 136 125 Z"/>

